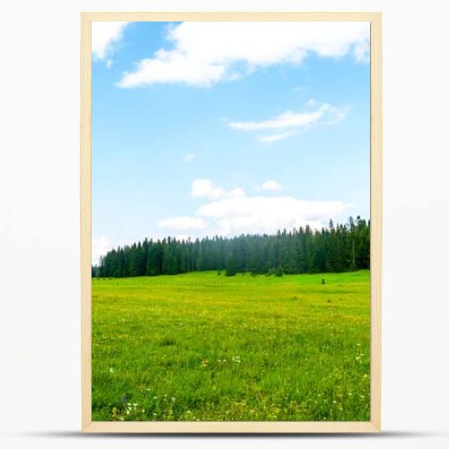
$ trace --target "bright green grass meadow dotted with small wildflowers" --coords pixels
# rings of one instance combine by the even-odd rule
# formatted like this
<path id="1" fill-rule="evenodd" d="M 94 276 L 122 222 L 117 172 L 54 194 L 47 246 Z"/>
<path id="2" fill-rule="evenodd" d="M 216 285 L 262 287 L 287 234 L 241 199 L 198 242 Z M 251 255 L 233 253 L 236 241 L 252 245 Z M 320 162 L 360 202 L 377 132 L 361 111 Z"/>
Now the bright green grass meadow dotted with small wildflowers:
<path id="1" fill-rule="evenodd" d="M 369 333 L 369 271 L 93 279 L 92 419 L 366 421 Z"/>

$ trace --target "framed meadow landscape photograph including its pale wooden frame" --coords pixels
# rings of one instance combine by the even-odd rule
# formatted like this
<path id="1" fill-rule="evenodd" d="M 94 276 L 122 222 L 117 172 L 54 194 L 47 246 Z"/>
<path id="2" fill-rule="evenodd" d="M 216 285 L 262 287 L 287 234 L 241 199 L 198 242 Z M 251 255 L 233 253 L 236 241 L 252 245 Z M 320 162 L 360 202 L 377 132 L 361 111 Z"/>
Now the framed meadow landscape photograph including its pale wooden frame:
<path id="1" fill-rule="evenodd" d="M 82 13 L 82 428 L 378 432 L 381 13 Z"/>

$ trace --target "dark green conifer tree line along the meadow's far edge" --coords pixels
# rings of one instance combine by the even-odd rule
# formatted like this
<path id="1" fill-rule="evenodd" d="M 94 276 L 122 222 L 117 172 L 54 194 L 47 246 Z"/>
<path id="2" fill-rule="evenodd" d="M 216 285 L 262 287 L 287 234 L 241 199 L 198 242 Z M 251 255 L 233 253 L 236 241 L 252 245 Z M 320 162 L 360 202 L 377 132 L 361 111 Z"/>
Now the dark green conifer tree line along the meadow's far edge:
<path id="1" fill-rule="evenodd" d="M 101 257 L 92 277 L 176 275 L 190 271 L 300 274 L 369 269 L 370 223 L 357 216 L 345 225 L 313 231 L 309 226 L 274 235 L 242 234 L 199 240 L 147 240 L 122 246 Z"/>

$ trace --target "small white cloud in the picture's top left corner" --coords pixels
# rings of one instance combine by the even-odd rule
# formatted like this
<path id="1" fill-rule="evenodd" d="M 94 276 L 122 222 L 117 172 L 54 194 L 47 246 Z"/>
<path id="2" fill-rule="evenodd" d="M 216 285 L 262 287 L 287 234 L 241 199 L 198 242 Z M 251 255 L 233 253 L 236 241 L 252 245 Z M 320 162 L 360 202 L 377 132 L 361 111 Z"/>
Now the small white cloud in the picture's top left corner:
<path id="1" fill-rule="evenodd" d="M 97 60 L 109 57 L 127 26 L 128 22 L 92 22 L 92 57 Z M 108 59 L 106 64 L 110 68 L 112 61 Z"/>

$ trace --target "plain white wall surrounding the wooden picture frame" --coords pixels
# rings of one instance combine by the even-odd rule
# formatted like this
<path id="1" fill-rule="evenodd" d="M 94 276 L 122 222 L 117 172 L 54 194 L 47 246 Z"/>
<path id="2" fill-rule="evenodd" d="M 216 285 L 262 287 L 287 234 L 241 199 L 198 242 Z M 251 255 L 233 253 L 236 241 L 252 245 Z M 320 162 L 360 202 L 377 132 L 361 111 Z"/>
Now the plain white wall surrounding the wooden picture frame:
<path id="1" fill-rule="evenodd" d="M 2 4 L 0 427 L 4 447 L 233 439 L 77 436 L 80 427 L 79 12 L 383 11 L 385 436 L 245 438 L 252 447 L 448 447 L 447 2 L 57 1 Z M 73 432 L 73 433 L 71 433 Z M 303 437 L 304 438 L 304 437 Z"/>

